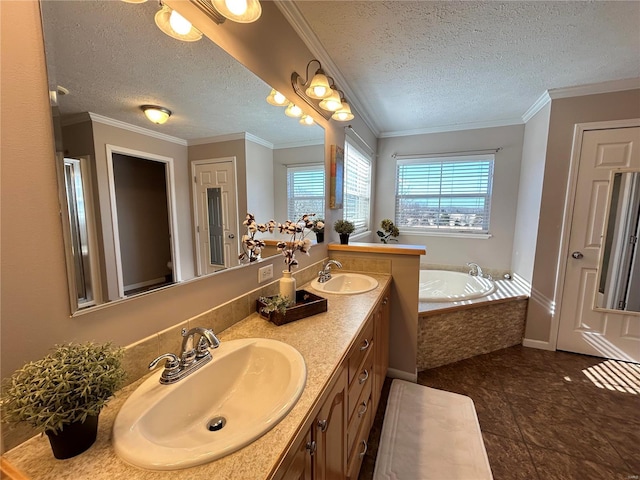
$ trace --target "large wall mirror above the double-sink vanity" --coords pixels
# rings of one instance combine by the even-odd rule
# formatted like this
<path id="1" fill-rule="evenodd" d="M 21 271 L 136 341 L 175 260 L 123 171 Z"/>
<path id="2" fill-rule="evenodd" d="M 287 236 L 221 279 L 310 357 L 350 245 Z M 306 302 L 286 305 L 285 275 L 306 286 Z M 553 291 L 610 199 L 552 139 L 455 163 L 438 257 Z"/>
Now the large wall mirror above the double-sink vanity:
<path id="1" fill-rule="evenodd" d="M 284 221 L 288 177 L 324 169 L 322 128 L 208 38 L 164 34 L 159 9 L 41 2 L 72 313 L 241 266 L 246 212 Z"/>

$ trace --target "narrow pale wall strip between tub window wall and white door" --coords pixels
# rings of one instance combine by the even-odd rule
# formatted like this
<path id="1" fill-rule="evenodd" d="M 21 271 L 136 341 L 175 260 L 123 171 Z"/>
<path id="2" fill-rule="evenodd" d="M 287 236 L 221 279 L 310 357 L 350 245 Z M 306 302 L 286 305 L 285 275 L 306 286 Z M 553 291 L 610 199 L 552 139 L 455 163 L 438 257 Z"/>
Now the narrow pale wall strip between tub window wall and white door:
<path id="1" fill-rule="evenodd" d="M 536 254 L 550 113 L 551 104 L 548 103 L 527 122 L 524 129 L 511 270 L 529 284 L 533 278 Z"/>

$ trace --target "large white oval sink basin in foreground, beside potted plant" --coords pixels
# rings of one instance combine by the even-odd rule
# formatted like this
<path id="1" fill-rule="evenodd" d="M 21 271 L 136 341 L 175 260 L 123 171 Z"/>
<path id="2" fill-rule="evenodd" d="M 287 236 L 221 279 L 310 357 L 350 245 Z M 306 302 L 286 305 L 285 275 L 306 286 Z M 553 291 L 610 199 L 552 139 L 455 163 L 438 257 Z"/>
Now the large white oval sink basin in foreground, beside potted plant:
<path id="1" fill-rule="evenodd" d="M 177 383 L 161 385 L 158 372 L 127 399 L 113 426 L 124 461 L 154 470 L 210 462 L 273 428 L 302 394 L 307 368 L 286 343 L 231 340 L 211 353 L 213 360 Z M 226 424 L 216 430 L 219 417 Z"/>

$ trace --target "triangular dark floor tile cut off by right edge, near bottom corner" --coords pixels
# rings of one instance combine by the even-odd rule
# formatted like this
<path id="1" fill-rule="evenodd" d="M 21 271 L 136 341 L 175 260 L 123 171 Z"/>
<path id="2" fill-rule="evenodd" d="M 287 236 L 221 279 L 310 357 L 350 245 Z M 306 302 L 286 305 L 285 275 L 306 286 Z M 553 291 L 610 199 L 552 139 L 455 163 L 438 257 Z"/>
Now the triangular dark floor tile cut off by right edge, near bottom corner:
<path id="1" fill-rule="evenodd" d="M 640 420 L 621 420 L 596 414 L 589 414 L 589 418 L 607 437 L 631 472 L 640 476 Z"/>

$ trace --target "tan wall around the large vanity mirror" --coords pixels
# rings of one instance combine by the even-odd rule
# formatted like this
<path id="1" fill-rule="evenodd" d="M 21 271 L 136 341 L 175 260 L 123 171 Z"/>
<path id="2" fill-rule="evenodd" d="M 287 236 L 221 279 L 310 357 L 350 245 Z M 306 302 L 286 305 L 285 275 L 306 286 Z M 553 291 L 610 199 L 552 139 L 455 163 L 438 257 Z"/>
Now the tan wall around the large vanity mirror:
<path id="1" fill-rule="evenodd" d="M 3 1 L 0 8 L 2 377 L 56 343 L 113 340 L 127 345 L 256 288 L 258 265 L 251 265 L 70 318 L 39 7 L 35 1 Z M 286 85 L 291 70 L 302 71 L 313 56 L 271 2 L 264 11 L 254 26 L 240 29 L 227 22 L 227 43 L 235 44 L 232 53 L 265 80 Z M 329 145 L 342 144 L 344 130 L 321 122 L 328 164 Z M 352 124 L 365 128 L 358 121 Z M 33 173 L 28 182 L 25 172 Z M 320 245 L 311 257 L 299 260 L 305 266 L 323 256 L 326 246 Z M 276 278 L 280 270 L 275 269 Z"/>

